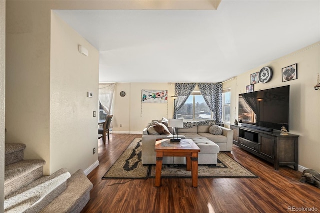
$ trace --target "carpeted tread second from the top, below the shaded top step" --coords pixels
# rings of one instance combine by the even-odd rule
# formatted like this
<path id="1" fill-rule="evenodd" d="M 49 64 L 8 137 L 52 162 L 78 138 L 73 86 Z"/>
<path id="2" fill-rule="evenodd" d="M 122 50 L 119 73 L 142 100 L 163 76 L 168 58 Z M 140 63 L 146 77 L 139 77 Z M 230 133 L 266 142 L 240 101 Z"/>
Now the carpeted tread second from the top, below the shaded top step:
<path id="1" fill-rule="evenodd" d="M 21 160 L 4 167 L 4 185 L 45 164 L 44 160 Z"/>

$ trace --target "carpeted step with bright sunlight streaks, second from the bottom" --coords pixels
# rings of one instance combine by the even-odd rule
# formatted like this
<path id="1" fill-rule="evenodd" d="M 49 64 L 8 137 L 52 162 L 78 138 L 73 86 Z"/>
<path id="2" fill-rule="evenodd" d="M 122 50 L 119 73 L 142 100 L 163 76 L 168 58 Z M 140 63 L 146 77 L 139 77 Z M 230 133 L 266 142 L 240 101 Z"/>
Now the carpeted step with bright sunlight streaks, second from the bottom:
<path id="1" fill-rule="evenodd" d="M 59 169 L 50 176 L 42 176 L 4 199 L 4 212 L 39 212 L 66 188 L 70 173 Z M 58 212 L 58 211 L 56 211 Z"/>

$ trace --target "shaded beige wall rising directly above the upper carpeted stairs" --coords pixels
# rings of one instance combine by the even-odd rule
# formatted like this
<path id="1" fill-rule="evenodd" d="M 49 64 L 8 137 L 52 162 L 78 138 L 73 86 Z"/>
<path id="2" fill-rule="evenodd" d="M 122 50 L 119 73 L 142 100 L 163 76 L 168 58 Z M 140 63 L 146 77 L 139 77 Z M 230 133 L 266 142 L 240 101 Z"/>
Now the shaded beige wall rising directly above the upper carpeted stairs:
<path id="1" fill-rule="evenodd" d="M 43 11 L 6 3 L 5 142 L 25 143 L 24 158 L 44 159 L 48 174 L 50 13 Z"/>

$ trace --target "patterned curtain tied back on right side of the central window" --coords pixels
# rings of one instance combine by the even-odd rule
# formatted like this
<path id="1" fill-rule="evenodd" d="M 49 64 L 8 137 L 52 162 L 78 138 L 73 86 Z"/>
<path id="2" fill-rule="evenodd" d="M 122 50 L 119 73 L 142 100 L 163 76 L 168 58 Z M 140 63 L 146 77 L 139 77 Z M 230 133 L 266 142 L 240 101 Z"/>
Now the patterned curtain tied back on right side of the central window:
<path id="1" fill-rule="evenodd" d="M 205 103 L 213 113 L 212 119 L 216 123 L 222 123 L 222 84 L 199 83 L 198 88 Z"/>

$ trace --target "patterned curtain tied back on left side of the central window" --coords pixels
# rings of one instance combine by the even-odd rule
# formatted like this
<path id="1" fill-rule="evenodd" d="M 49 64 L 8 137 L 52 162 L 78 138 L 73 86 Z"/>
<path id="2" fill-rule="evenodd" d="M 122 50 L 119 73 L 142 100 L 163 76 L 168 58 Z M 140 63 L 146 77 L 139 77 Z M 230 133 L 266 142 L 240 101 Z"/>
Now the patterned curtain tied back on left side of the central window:
<path id="1" fill-rule="evenodd" d="M 189 95 L 191 95 L 194 87 L 196 84 L 193 83 L 186 83 L 186 84 L 179 84 L 176 83 L 174 85 L 174 96 L 177 96 L 175 100 L 175 106 L 173 110 L 173 118 L 177 118 L 176 112 L 181 109 L 183 104 L 185 103 L 186 99 L 188 99 Z"/>

